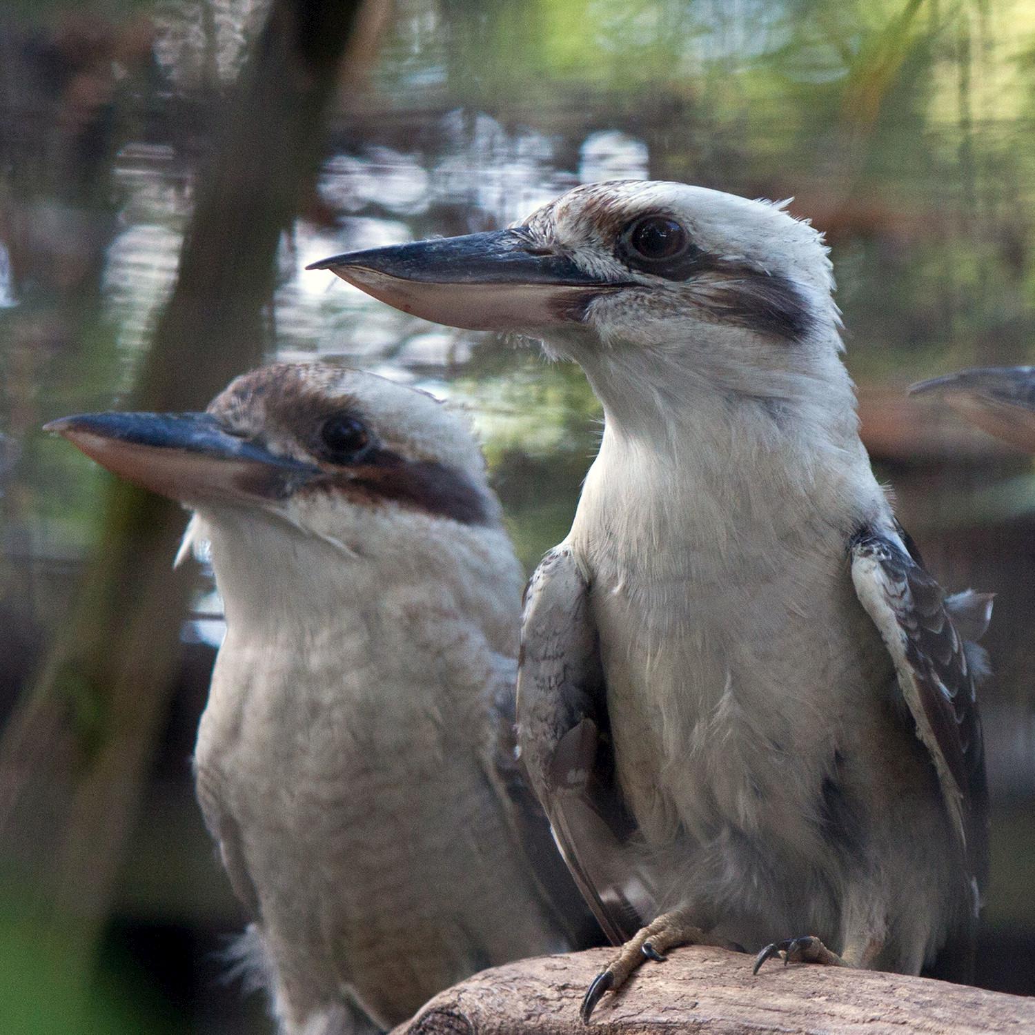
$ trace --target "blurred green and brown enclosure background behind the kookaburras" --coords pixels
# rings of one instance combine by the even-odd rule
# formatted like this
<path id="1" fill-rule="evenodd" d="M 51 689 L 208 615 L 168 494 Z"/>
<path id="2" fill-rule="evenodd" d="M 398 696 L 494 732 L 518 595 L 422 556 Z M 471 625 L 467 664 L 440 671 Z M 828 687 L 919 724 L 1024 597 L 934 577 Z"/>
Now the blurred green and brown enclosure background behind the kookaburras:
<path id="1" fill-rule="evenodd" d="M 0 1031 L 269 1031 L 189 755 L 220 635 L 185 515 L 40 425 L 200 409 L 263 358 L 466 405 L 522 559 L 599 433 L 578 369 L 306 263 L 582 181 L 795 200 L 867 446 L 948 587 L 995 591 L 979 983 L 1035 993 L 1035 476 L 914 380 L 1035 361 L 1024 0 L 7 0 L 0 12 Z"/>

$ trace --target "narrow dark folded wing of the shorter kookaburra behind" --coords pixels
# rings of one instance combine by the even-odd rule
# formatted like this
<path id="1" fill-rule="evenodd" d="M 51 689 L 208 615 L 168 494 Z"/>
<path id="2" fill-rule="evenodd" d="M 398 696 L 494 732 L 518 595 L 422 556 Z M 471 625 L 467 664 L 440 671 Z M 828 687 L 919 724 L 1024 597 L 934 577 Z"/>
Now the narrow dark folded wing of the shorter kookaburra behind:
<path id="1" fill-rule="evenodd" d="M 511 664 L 512 664 L 511 659 Z M 505 796 L 507 819 L 528 870 L 551 916 L 572 949 L 603 945 L 600 927 L 583 900 L 550 832 L 550 822 L 518 761 L 513 670 L 501 679 L 490 702 L 493 718 L 492 765 Z"/>

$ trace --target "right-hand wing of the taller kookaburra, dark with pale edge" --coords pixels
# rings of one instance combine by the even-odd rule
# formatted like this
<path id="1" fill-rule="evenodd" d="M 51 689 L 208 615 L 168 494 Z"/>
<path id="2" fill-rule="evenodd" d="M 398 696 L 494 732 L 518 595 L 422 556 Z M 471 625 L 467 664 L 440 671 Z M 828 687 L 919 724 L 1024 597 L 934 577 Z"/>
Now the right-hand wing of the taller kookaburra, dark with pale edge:
<path id="1" fill-rule="evenodd" d="M 894 532 L 853 536 L 852 581 L 891 654 L 898 687 L 938 772 L 942 797 L 965 852 L 974 910 L 988 868 L 988 792 L 977 684 L 984 652 L 960 635 L 980 634 L 988 594 L 947 597 Z"/>

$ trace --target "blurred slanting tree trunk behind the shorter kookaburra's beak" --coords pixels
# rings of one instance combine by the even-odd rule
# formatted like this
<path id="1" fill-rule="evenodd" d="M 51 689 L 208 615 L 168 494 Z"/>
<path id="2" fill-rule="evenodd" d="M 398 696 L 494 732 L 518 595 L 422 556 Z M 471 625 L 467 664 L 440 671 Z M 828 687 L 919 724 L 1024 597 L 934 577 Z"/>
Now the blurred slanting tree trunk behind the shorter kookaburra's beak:
<path id="1" fill-rule="evenodd" d="M 272 0 L 228 103 L 134 409 L 203 408 L 267 344 L 277 244 L 310 183 L 360 0 Z M 368 40 L 364 40 L 368 43 Z M 190 578 L 175 505 L 123 482 L 100 549 L 0 740 L 5 916 L 85 984 L 167 714 Z"/>

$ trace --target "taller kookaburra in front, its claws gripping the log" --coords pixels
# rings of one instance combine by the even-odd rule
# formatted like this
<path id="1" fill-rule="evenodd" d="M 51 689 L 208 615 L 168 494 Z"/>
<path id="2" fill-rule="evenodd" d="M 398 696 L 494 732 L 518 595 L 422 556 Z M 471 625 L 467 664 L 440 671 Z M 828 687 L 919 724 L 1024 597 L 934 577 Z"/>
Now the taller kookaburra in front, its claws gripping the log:
<path id="1" fill-rule="evenodd" d="M 505 230 L 315 263 L 537 338 L 602 405 L 527 591 L 522 762 L 618 951 L 963 978 L 987 874 L 988 594 L 948 595 L 859 438 L 822 236 L 787 203 L 583 184 Z"/>

